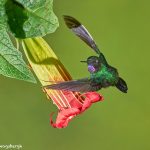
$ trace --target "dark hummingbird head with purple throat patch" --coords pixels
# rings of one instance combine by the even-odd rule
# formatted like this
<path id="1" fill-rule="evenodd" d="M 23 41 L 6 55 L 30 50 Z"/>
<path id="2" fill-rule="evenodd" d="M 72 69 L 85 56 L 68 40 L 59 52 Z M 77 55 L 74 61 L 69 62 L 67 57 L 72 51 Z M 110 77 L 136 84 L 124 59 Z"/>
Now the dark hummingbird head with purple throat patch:
<path id="1" fill-rule="evenodd" d="M 87 58 L 87 64 L 88 64 L 88 71 L 90 73 L 97 72 L 100 69 L 100 66 L 101 66 L 99 57 L 97 57 L 97 56 L 88 57 Z"/>

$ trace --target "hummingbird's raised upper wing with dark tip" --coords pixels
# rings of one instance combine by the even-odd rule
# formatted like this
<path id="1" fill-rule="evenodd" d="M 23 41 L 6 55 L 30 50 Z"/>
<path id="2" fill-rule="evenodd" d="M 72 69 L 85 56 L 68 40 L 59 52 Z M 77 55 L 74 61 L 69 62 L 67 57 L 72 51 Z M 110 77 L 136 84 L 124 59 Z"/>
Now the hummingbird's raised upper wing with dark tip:
<path id="1" fill-rule="evenodd" d="M 64 20 L 69 29 L 71 29 L 80 39 L 89 45 L 97 54 L 100 54 L 99 48 L 93 40 L 93 37 L 78 20 L 71 16 L 64 16 Z"/>

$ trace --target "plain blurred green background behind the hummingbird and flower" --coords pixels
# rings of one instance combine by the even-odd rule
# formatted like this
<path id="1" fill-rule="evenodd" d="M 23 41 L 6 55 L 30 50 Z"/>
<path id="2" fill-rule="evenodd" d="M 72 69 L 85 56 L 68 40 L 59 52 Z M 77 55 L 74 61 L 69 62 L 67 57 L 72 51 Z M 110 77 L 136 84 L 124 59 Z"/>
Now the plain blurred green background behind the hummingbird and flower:
<path id="1" fill-rule="evenodd" d="M 101 90 L 102 103 L 60 130 L 49 125 L 49 114 L 57 109 L 39 83 L 0 76 L 0 144 L 21 144 L 23 150 L 149 150 L 149 6 L 148 0 L 54 0 L 60 27 L 45 39 L 72 77 L 89 75 L 80 60 L 95 53 L 67 29 L 64 14 L 88 28 L 129 91 Z"/>

